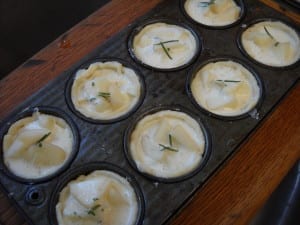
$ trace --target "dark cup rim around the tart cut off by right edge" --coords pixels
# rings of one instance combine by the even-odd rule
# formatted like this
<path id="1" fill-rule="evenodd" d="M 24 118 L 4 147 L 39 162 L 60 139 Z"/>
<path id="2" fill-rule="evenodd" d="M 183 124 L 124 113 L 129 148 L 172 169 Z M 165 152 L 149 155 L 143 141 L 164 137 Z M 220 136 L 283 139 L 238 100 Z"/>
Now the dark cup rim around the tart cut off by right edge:
<path id="1" fill-rule="evenodd" d="M 242 35 L 243 35 L 243 32 L 246 31 L 249 27 L 257 24 L 257 23 L 260 23 L 260 22 L 281 22 L 285 25 L 287 25 L 288 27 L 292 28 L 297 34 L 298 34 L 298 37 L 300 39 L 300 33 L 299 31 L 290 23 L 286 22 L 286 21 L 283 21 L 282 19 L 277 19 L 277 18 L 260 18 L 260 19 L 256 19 L 256 20 L 253 20 L 251 22 L 248 22 L 246 24 L 246 26 L 241 26 L 238 33 L 237 33 L 237 38 L 236 38 L 236 43 L 237 43 L 237 46 L 238 48 L 240 49 L 240 51 L 242 52 L 242 54 L 244 56 L 246 56 L 248 58 L 248 60 L 250 60 L 251 62 L 255 63 L 256 65 L 259 65 L 261 67 L 264 67 L 264 68 L 267 68 L 267 69 L 272 69 L 272 70 L 287 70 L 287 69 L 294 69 L 294 68 L 297 68 L 298 66 L 300 66 L 300 58 L 294 62 L 293 64 L 291 65 L 287 65 L 287 66 L 269 66 L 269 65 L 266 65 L 262 62 L 259 62 L 257 61 L 256 59 L 254 59 L 252 56 L 250 56 L 247 51 L 245 50 L 243 44 L 242 44 Z"/>

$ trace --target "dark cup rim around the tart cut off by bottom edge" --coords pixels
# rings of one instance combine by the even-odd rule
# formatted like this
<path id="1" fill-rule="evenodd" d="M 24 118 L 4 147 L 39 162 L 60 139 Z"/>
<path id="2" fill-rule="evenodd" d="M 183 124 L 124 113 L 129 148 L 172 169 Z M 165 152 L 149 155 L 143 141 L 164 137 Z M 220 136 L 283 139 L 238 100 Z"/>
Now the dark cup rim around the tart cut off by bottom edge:
<path id="1" fill-rule="evenodd" d="M 137 205 L 138 205 L 138 212 L 137 212 L 137 218 L 133 225 L 141 225 L 143 224 L 144 214 L 145 214 L 145 202 L 144 197 L 141 188 L 138 185 L 138 182 L 127 172 L 124 171 L 124 169 L 111 164 L 107 162 L 91 162 L 89 164 L 86 164 L 84 166 L 77 167 L 75 169 L 72 169 L 68 171 L 66 174 L 64 174 L 63 177 L 59 180 L 58 184 L 54 188 L 51 198 L 50 198 L 50 205 L 49 205 L 49 212 L 48 212 L 48 220 L 50 224 L 57 225 L 57 219 L 56 219 L 56 204 L 59 200 L 59 195 L 62 189 L 72 180 L 75 180 L 80 175 L 87 175 L 95 170 L 107 170 L 110 172 L 114 172 L 121 177 L 125 178 L 133 188 L 136 199 L 137 199 Z"/>

